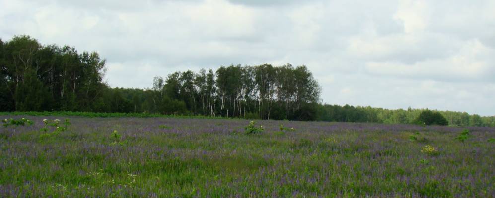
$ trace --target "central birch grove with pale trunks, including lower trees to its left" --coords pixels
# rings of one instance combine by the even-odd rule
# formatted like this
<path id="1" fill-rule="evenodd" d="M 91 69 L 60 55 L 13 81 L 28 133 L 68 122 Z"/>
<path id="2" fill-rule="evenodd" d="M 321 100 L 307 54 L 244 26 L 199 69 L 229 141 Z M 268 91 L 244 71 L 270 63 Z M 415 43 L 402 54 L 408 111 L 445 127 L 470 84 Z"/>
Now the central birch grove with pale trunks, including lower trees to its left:
<path id="1" fill-rule="evenodd" d="M 115 88 L 107 111 L 316 120 L 320 92 L 304 65 L 230 65 L 154 77 L 151 89 Z"/>

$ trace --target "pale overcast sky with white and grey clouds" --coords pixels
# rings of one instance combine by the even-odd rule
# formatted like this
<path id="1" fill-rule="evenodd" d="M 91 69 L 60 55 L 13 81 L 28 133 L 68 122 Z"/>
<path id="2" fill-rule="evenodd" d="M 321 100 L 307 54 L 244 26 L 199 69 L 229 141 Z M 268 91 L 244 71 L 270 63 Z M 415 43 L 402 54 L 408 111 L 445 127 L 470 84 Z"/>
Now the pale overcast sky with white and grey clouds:
<path id="1" fill-rule="evenodd" d="M 495 115 L 494 0 L 0 0 L 0 38 L 96 51 L 112 87 L 306 65 L 321 101 Z"/>

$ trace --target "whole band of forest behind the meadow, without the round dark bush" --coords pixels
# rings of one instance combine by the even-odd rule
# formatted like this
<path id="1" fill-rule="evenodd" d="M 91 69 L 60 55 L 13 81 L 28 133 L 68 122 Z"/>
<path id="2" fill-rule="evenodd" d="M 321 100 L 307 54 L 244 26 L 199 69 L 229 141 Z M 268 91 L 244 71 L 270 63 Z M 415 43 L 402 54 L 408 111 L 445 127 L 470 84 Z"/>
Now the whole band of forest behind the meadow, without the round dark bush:
<path id="1" fill-rule="evenodd" d="M 423 109 L 388 110 L 320 101 L 304 65 L 221 66 L 154 77 L 149 89 L 111 88 L 105 60 L 29 36 L 0 39 L 0 111 L 81 111 L 247 119 L 413 123 Z M 439 111 L 455 126 L 495 126 L 495 116 Z"/>

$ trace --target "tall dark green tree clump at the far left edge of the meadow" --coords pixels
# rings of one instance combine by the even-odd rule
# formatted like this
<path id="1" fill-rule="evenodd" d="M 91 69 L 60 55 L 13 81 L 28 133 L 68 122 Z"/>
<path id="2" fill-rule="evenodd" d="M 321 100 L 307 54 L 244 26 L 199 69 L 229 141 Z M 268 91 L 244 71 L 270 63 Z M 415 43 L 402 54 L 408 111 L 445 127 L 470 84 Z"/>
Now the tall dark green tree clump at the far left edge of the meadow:
<path id="1" fill-rule="evenodd" d="M 95 109 L 105 87 L 105 61 L 97 53 L 43 46 L 26 35 L 2 46 L 0 100 L 10 106 L 0 105 L 0 111 Z"/>

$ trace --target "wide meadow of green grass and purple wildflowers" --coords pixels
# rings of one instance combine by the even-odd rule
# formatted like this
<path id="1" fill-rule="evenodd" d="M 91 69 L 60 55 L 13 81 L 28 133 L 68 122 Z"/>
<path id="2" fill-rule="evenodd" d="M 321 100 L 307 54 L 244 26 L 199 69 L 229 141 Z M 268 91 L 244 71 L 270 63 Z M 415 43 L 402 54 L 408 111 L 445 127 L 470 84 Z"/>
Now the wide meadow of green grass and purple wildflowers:
<path id="1" fill-rule="evenodd" d="M 495 195 L 495 128 L 25 118 L 0 131 L 0 197 Z"/>

